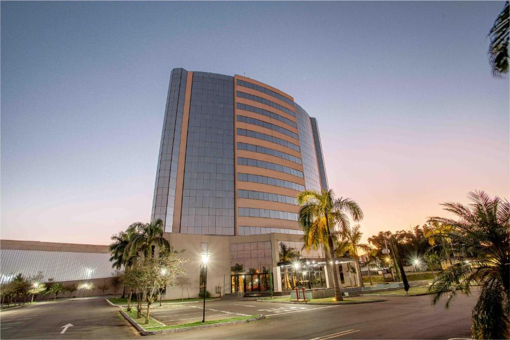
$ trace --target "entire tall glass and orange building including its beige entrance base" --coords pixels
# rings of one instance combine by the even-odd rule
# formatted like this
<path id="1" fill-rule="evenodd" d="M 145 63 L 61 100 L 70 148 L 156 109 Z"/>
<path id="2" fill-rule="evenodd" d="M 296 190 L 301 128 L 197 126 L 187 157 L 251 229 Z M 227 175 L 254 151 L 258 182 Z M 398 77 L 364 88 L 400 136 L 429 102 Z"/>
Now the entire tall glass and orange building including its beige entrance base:
<path id="1" fill-rule="evenodd" d="M 163 220 L 191 262 L 210 250 L 215 285 L 264 291 L 271 270 L 276 291 L 327 284 L 321 266 L 313 279 L 282 274 L 282 245 L 323 259 L 301 249 L 295 197 L 304 189 L 328 189 L 327 176 L 317 120 L 292 96 L 240 75 L 172 70 L 151 220 Z"/>

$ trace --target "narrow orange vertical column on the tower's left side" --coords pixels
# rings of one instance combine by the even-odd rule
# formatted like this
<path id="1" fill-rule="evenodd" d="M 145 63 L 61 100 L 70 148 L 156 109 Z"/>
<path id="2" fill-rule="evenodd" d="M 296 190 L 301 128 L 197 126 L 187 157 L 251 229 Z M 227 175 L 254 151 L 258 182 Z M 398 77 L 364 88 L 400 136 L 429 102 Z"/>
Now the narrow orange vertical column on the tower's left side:
<path id="1" fill-rule="evenodd" d="M 184 94 L 183 123 L 181 127 L 181 145 L 179 146 L 179 162 L 177 163 L 177 180 L 175 184 L 175 205 L 173 207 L 172 232 L 181 232 L 181 209 L 183 206 L 184 164 L 186 162 L 186 142 L 188 141 L 188 122 L 190 119 L 191 84 L 193 72 L 188 72 L 186 91 Z M 178 228 L 178 229 L 177 229 Z"/>

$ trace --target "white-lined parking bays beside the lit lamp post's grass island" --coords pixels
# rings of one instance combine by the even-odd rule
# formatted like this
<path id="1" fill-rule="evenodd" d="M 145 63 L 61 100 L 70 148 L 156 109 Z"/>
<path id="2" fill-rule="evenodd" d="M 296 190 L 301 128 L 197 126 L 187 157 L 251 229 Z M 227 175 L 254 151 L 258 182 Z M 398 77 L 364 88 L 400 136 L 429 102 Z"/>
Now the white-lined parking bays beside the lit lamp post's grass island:
<path id="1" fill-rule="evenodd" d="M 201 305 L 196 304 L 178 304 L 168 306 L 165 308 L 155 309 L 150 313 L 150 315 L 151 317 L 155 318 L 161 323 L 167 326 L 172 326 L 202 321 L 203 308 Z M 206 306 L 207 321 L 230 319 L 244 316 L 247 316 L 247 314 L 230 310 L 210 308 L 209 306 Z"/>

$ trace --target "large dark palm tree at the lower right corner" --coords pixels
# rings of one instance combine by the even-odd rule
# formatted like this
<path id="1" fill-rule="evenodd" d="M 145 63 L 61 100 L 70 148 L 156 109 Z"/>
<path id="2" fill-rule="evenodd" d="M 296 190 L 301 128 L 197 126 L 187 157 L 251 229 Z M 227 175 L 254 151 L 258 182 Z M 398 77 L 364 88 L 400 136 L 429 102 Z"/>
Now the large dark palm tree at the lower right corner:
<path id="1" fill-rule="evenodd" d="M 480 294 L 472 311 L 471 336 L 476 339 L 507 339 L 510 300 L 510 203 L 491 198 L 483 191 L 470 192 L 469 205 L 443 203 L 457 219 L 431 217 L 429 221 L 452 227 L 446 237 L 459 245 L 456 263 L 438 274 L 430 286 L 432 303 L 447 295 L 448 307 L 458 292 L 469 294 L 479 285 Z M 450 292 L 451 291 L 451 292 Z"/>

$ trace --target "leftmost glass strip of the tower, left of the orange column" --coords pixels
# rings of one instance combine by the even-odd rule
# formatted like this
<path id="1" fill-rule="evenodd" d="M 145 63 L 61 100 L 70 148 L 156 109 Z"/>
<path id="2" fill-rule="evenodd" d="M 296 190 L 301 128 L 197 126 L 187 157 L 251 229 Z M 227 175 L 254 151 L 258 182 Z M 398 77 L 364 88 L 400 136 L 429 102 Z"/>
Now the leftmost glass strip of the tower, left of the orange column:
<path id="1" fill-rule="evenodd" d="M 177 180 L 177 163 L 184 112 L 184 96 L 188 72 L 182 68 L 172 70 L 168 101 L 156 172 L 156 185 L 152 201 L 151 220 L 164 221 L 164 230 L 172 231 L 173 208 L 175 203 L 175 184 Z"/>

